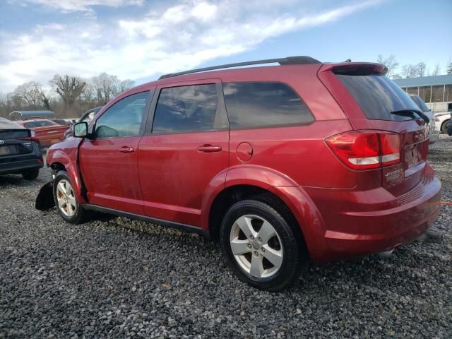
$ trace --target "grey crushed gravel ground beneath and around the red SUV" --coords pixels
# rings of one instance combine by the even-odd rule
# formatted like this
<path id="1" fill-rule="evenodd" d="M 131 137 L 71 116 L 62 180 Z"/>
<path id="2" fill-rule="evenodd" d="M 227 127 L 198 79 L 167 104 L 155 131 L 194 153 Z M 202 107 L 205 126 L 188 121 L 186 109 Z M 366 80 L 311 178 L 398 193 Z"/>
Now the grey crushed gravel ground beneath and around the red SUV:
<path id="1" fill-rule="evenodd" d="M 429 157 L 452 201 L 452 140 Z M 35 210 L 48 179 L 0 177 L 0 338 L 452 337 L 452 206 L 436 222 L 444 244 L 311 264 L 269 293 L 239 282 L 196 234 L 126 218 L 74 226 Z"/>

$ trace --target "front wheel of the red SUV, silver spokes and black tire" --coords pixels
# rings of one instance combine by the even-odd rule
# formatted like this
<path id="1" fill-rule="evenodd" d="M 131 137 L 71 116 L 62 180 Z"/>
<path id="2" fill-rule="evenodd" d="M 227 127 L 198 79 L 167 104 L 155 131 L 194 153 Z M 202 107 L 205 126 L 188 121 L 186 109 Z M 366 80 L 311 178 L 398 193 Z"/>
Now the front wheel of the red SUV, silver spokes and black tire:
<path id="1" fill-rule="evenodd" d="M 80 224 L 88 218 L 88 211 L 77 202 L 67 172 L 59 171 L 54 179 L 55 206 L 61 218 L 71 224 Z"/>

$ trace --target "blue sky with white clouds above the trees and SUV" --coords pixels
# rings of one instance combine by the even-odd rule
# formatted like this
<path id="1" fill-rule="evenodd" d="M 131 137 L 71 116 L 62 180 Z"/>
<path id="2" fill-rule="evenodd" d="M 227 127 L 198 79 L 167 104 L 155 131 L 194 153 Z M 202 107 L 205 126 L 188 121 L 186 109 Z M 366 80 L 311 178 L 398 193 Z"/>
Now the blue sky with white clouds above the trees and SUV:
<path id="1" fill-rule="evenodd" d="M 452 1 L 0 0 L 0 92 L 56 73 L 143 83 L 251 59 L 452 57 Z"/>

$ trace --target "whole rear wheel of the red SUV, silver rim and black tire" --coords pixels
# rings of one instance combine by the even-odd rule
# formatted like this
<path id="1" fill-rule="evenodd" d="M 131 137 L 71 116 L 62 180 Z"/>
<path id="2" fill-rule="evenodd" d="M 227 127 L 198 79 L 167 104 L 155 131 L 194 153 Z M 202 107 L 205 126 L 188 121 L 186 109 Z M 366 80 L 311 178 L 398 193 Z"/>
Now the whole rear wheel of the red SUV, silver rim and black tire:
<path id="1" fill-rule="evenodd" d="M 279 291 L 299 278 L 306 261 L 291 221 L 262 201 L 235 203 L 221 225 L 220 243 L 238 278 L 261 290 Z"/>

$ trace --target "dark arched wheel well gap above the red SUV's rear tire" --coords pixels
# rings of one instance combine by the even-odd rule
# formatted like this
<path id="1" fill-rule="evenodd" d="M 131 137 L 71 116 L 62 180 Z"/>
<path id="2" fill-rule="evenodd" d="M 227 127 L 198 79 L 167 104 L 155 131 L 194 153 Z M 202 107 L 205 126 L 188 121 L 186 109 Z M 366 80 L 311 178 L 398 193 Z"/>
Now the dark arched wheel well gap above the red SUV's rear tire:
<path id="1" fill-rule="evenodd" d="M 228 187 L 215 197 L 209 213 L 209 230 L 211 239 L 218 242 L 220 239 L 220 225 L 227 210 L 234 205 L 234 203 L 247 198 L 262 201 L 263 203 L 267 203 L 271 207 L 275 208 L 275 210 L 278 210 L 278 212 L 283 215 L 287 222 L 294 228 L 295 234 L 299 236 L 301 240 L 303 239 L 302 231 L 299 228 L 298 222 L 285 203 L 270 191 L 261 189 L 257 186 L 249 185 Z M 304 240 L 302 240 L 302 242 L 304 243 Z"/>

